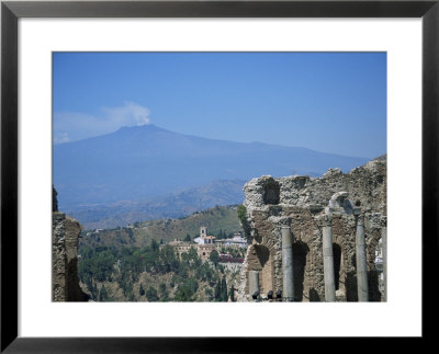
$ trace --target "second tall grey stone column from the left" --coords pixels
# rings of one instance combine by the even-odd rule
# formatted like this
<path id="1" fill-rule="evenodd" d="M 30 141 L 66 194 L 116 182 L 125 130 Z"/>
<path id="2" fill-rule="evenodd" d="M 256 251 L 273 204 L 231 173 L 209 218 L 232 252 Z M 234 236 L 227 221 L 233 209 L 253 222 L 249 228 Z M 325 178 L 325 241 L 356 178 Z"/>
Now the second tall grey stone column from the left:
<path id="1" fill-rule="evenodd" d="M 336 300 L 333 253 L 333 218 L 325 215 L 323 226 L 323 269 L 325 275 L 325 301 Z"/>

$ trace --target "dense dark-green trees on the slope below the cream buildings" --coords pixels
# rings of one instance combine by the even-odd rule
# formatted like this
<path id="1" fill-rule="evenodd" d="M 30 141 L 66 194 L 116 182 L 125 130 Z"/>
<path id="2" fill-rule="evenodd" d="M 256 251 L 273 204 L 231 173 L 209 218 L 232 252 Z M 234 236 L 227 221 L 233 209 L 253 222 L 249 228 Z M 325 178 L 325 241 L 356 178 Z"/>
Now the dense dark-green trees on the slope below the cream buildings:
<path id="1" fill-rule="evenodd" d="M 156 240 L 142 248 L 82 247 L 78 273 L 94 301 L 234 300 L 237 277 L 216 252 L 202 262 L 191 248 L 179 259 L 172 247 Z"/>

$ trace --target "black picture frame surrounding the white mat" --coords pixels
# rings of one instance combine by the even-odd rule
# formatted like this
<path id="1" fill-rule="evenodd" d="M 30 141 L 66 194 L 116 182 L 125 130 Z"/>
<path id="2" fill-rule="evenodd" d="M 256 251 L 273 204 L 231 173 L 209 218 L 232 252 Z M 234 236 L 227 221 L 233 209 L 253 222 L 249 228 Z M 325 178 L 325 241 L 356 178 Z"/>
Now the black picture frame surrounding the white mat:
<path id="1" fill-rule="evenodd" d="M 1 352 L 259 352 L 267 339 L 18 336 L 18 21 L 20 18 L 421 18 L 423 339 L 435 335 L 429 279 L 438 254 L 439 0 L 386 1 L 2 1 L 1 2 Z M 407 161 L 409 168 L 409 161 Z M 404 176 L 402 176 L 404 178 Z M 409 181 L 407 181 L 409 184 Z M 419 206 L 409 206 L 419 207 Z M 37 235 L 37 231 L 36 231 Z M 275 326 L 275 323 L 272 323 Z M 432 324 L 430 324 L 432 327 Z M 294 333 L 292 333 L 292 336 Z M 342 333 L 340 333 L 342 335 Z M 277 339 L 277 347 L 283 345 Z M 273 349 L 274 350 L 274 349 Z M 383 350 L 385 350 L 383 347 Z"/>

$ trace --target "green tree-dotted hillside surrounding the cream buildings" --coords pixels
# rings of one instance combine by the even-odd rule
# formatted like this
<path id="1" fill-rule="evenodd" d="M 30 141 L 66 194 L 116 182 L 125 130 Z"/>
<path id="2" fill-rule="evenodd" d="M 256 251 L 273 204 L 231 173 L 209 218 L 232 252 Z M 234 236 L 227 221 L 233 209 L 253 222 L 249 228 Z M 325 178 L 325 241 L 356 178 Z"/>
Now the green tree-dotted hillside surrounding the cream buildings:
<path id="1" fill-rule="evenodd" d="M 237 206 L 216 206 L 179 219 L 82 231 L 78 274 L 83 290 L 93 301 L 233 299 L 239 265 L 203 262 L 194 249 L 179 259 L 172 247 L 159 247 L 188 235 L 193 240 L 201 226 L 219 238 L 240 231 Z"/>

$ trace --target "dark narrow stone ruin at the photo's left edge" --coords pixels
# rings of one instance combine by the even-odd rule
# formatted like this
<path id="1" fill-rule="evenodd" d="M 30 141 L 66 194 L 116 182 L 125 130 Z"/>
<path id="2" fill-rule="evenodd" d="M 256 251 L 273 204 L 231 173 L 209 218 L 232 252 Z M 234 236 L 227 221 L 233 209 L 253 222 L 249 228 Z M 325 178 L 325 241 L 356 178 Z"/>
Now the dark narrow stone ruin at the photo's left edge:
<path id="1" fill-rule="evenodd" d="M 53 189 L 52 214 L 52 300 L 87 301 L 79 286 L 78 242 L 79 222 L 58 212 L 57 193 Z"/>

